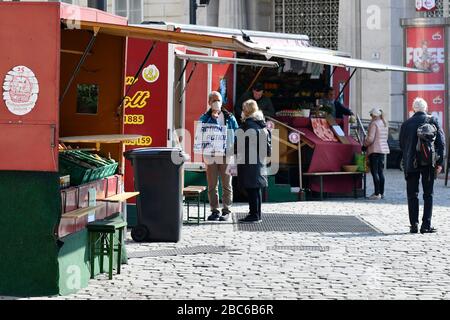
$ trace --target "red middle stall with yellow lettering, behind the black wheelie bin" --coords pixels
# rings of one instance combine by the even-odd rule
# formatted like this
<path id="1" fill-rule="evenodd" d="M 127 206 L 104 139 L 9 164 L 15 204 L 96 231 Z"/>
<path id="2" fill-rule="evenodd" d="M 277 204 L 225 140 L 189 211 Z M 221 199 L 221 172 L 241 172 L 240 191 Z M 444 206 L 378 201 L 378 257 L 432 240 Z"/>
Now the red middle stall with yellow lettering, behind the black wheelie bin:
<path id="1" fill-rule="evenodd" d="M 137 25 L 174 29 L 171 26 Z M 144 139 L 129 143 L 127 150 L 139 147 L 181 146 L 191 162 L 185 165 L 185 185 L 202 185 L 203 159 L 193 152 L 194 123 L 207 111 L 208 94 L 221 92 L 224 106 L 234 105 L 235 65 L 277 68 L 276 62 L 237 59 L 236 51 L 157 43 L 130 38 L 125 97 L 125 133 L 141 134 Z M 149 50 L 151 54 L 149 55 Z M 183 131 L 183 130 L 186 131 Z M 191 139 L 188 139 L 190 136 Z M 125 173 L 132 172 L 127 163 Z M 133 177 L 125 174 L 125 188 L 133 189 Z M 135 225 L 137 207 L 128 205 L 129 223 Z"/>

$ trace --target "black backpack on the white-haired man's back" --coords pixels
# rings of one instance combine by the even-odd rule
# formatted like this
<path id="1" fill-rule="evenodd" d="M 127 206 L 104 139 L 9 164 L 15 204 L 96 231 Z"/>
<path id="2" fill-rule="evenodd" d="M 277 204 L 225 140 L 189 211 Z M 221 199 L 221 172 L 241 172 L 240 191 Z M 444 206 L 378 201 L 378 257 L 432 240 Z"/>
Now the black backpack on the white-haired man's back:
<path id="1" fill-rule="evenodd" d="M 417 129 L 416 167 L 435 167 L 438 155 L 434 142 L 437 137 L 437 128 L 427 117 L 425 123 Z"/>

